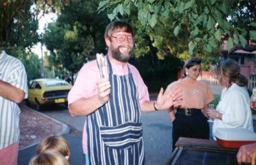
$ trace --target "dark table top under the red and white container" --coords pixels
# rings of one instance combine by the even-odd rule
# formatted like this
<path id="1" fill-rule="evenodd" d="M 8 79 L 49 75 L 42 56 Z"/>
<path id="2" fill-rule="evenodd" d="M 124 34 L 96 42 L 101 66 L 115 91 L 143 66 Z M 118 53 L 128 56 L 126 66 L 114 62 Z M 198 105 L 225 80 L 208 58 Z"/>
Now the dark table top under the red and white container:
<path id="1" fill-rule="evenodd" d="M 209 139 L 179 138 L 167 165 L 233 165 L 238 149 L 223 148 Z"/>

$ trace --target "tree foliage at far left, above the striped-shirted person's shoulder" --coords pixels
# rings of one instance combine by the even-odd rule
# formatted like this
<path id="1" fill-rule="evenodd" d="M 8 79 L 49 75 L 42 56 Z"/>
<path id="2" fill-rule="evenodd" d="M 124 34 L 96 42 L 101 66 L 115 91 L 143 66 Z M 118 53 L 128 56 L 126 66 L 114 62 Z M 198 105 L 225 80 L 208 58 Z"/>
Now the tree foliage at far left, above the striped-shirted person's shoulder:
<path id="1" fill-rule="evenodd" d="M 0 0 L 0 48 L 24 63 L 28 80 L 40 77 L 40 60 L 30 51 L 41 40 L 38 21 L 44 13 L 58 11 L 67 2 Z"/>

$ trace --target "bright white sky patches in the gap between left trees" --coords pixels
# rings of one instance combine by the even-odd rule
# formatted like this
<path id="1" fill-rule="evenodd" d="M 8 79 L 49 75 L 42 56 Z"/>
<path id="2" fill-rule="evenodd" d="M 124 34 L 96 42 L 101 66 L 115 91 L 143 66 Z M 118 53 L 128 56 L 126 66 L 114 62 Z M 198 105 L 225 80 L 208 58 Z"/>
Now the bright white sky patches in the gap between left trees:
<path id="1" fill-rule="evenodd" d="M 44 33 L 44 28 L 47 28 L 47 25 L 51 22 L 56 21 L 57 19 L 57 15 L 55 13 L 48 13 L 45 14 L 39 21 L 39 28 L 37 30 L 37 32 L 39 34 Z M 42 52 L 41 52 L 41 43 L 37 43 L 32 49 L 32 52 L 34 52 L 35 54 L 37 54 L 39 56 L 39 58 L 41 58 L 42 56 Z M 47 49 L 46 47 L 43 45 L 43 52 L 46 52 Z"/>

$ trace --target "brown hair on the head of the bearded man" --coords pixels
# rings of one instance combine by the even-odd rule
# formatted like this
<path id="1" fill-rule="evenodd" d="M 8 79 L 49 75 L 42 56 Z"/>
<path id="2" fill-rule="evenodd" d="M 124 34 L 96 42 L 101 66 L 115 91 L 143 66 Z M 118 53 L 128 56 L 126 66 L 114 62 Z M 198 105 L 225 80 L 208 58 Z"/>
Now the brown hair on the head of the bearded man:
<path id="1" fill-rule="evenodd" d="M 104 37 L 108 40 L 111 40 L 111 36 L 115 32 L 124 31 L 127 33 L 131 33 L 133 36 L 132 26 L 125 20 L 115 20 L 108 24 Z"/>

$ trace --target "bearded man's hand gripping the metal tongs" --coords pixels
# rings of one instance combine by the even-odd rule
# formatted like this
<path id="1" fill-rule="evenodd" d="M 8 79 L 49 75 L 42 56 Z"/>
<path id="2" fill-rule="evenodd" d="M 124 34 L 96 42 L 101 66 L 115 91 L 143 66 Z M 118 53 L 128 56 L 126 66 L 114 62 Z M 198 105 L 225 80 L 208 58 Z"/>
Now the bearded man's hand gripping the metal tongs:
<path id="1" fill-rule="evenodd" d="M 99 79 L 97 81 L 98 98 L 101 104 L 105 104 L 109 100 L 111 85 L 108 79 Z"/>

